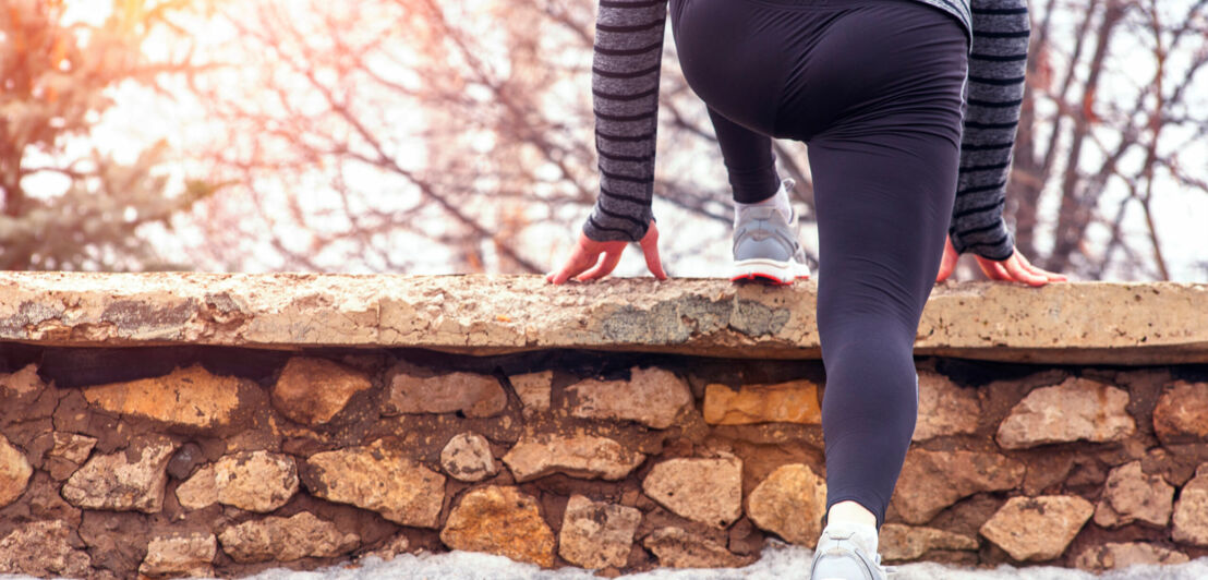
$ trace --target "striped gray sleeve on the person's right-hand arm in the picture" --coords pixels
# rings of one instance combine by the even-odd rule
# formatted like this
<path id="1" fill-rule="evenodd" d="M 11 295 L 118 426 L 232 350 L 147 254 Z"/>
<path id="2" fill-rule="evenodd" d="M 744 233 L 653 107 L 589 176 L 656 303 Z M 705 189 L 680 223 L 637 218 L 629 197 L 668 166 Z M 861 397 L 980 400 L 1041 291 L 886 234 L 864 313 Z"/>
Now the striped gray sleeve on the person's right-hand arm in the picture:
<path id="1" fill-rule="evenodd" d="M 1015 239 L 1003 205 L 1028 65 L 1027 0 L 974 0 L 972 24 L 960 178 L 948 233 L 959 253 L 1006 260 Z"/>

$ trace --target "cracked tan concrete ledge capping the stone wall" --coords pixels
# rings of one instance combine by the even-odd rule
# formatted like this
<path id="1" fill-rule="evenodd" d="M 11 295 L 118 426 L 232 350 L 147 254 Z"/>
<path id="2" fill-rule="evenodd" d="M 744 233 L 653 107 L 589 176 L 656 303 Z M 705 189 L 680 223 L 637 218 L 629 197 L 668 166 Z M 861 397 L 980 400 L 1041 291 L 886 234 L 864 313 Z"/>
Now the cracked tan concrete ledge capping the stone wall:
<path id="1" fill-rule="evenodd" d="M 586 348 L 817 359 L 817 285 L 540 277 L 0 272 L 0 342 L 60 347 Z M 1208 362 L 1208 284 L 947 283 L 916 353 L 1047 364 Z"/>

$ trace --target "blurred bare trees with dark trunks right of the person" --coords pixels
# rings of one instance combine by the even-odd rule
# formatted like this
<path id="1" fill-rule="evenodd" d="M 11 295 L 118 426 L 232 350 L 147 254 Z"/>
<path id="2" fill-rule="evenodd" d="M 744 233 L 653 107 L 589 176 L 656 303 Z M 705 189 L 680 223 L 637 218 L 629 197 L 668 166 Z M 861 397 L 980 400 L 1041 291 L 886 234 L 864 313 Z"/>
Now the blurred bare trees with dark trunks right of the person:
<path id="1" fill-rule="evenodd" d="M 1154 207 L 1175 190 L 1208 195 L 1208 1 L 1044 0 L 1033 10 L 1007 195 L 1020 249 L 1084 279 L 1171 279 Z M 1139 231 L 1129 232 L 1129 213 Z M 1167 218 L 1167 227 L 1185 222 Z M 1038 233 L 1049 228 L 1045 255 Z"/>

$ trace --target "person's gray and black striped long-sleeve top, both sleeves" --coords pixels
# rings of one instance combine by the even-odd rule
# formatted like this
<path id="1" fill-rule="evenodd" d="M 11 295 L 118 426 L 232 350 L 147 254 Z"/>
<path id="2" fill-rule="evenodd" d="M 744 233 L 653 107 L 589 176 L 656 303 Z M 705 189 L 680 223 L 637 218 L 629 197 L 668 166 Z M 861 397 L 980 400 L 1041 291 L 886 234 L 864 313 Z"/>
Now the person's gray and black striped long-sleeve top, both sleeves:
<path id="1" fill-rule="evenodd" d="M 1006 180 L 1028 58 L 1027 0 L 914 0 L 962 22 L 970 36 L 960 175 L 949 236 L 957 251 L 1005 260 L 1015 239 L 1003 221 Z M 641 239 L 654 219 L 658 81 L 667 0 L 600 0 L 592 94 L 600 196 L 588 238 Z"/>

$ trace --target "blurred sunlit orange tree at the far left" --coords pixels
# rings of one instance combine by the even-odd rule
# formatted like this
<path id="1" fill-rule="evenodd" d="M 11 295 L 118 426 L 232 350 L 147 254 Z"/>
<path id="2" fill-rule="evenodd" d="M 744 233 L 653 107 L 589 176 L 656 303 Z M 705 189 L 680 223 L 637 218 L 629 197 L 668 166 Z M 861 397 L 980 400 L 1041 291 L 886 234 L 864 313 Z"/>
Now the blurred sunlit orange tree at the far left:
<path id="1" fill-rule="evenodd" d="M 162 268 L 137 230 L 211 193 L 170 195 L 155 144 L 121 163 L 87 138 L 121 83 L 155 86 L 184 65 L 140 52 L 184 1 L 114 0 L 101 25 L 68 23 L 62 0 L 0 7 L 0 269 Z"/>

